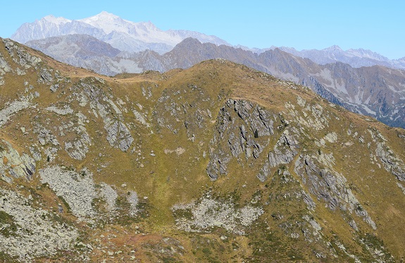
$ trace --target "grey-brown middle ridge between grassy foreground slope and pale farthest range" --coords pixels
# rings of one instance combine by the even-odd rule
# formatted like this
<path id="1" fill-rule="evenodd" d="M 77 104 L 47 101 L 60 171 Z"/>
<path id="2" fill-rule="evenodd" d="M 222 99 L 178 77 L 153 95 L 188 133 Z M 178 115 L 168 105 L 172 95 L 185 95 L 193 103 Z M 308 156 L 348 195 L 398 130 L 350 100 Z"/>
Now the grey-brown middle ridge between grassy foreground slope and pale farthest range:
<path id="1" fill-rule="evenodd" d="M 46 41 L 32 42 L 40 47 Z M 30 44 L 31 42 L 27 43 Z M 58 53 L 41 49 L 58 58 Z M 310 59 L 293 56 L 282 49 L 270 49 L 256 54 L 244 49 L 187 38 L 171 51 L 160 55 L 154 51 L 137 54 L 118 54 L 116 58 L 100 56 L 87 62 L 65 60 L 75 66 L 92 68 L 108 75 L 116 73 L 140 73 L 142 71 L 169 71 L 173 68 L 189 68 L 207 59 L 228 59 L 264 71 L 284 80 L 291 80 L 311 87 L 321 96 L 347 109 L 378 118 L 391 126 L 405 127 L 404 118 L 404 71 L 371 66 L 353 68 L 342 62 L 319 65 Z M 378 90 L 379 87 L 381 90 Z"/>

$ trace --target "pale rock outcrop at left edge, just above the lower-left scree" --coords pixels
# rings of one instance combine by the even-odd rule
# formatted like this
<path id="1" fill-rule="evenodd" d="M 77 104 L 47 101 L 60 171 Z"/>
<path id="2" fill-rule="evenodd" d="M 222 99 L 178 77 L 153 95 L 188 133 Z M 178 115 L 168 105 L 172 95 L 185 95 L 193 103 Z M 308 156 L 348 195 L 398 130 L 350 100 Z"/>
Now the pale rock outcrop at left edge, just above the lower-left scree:
<path id="1" fill-rule="evenodd" d="M 35 160 L 30 155 L 19 154 L 6 140 L 0 141 L 0 178 L 8 183 L 13 178 L 30 180 L 36 171 Z"/>

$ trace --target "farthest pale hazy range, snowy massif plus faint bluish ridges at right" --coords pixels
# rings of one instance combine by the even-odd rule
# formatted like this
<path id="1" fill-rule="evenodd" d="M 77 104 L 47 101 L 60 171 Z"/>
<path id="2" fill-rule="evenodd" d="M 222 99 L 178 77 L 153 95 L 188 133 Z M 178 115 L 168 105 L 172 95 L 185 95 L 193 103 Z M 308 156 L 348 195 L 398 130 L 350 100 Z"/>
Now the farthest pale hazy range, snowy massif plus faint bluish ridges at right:
<path id="1" fill-rule="evenodd" d="M 80 20 L 46 16 L 40 20 L 36 20 L 34 23 L 21 25 L 11 36 L 11 39 L 25 44 L 32 40 L 75 34 L 90 35 L 111 44 L 112 47 L 120 49 L 120 51 L 128 51 L 131 53 L 149 49 L 156 51 L 158 54 L 164 54 L 187 37 L 198 39 L 201 43 L 225 44 L 232 47 L 231 44 L 216 36 L 208 36 L 200 32 L 188 30 L 164 31 L 160 30 L 151 22 L 134 23 L 105 11 L 96 16 Z M 257 54 L 261 54 L 270 49 L 279 48 L 294 56 L 311 59 L 313 62 L 322 65 L 339 61 L 347 63 L 354 68 L 380 65 L 405 69 L 405 57 L 391 60 L 365 49 L 348 49 L 344 51 L 338 46 L 332 46 L 322 50 L 304 49 L 297 51 L 292 47 L 272 46 L 265 49 L 249 48 L 241 45 L 233 47 L 252 51 Z"/>

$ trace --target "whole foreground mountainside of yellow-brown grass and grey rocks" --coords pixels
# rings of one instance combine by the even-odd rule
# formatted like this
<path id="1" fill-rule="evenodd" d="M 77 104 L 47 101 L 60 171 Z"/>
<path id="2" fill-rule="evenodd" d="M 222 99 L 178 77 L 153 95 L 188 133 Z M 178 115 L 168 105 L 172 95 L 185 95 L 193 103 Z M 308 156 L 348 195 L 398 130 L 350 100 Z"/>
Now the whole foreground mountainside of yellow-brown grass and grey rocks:
<path id="1" fill-rule="evenodd" d="M 1 262 L 402 262 L 405 130 L 214 59 L 114 77 L 0 39 Z"/>

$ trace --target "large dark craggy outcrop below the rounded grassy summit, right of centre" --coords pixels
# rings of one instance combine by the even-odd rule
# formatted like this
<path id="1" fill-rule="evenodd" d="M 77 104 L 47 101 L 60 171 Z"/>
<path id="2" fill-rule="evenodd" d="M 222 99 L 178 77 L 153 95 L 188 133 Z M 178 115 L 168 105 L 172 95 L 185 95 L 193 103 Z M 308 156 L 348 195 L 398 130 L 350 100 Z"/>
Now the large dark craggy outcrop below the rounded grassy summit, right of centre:
<path id="1" fill-rule="evenodd" d="M 273 117 L 266 109 L 245 100 L 229 99 L 220 109 L 210 142 L 207 173 L 211 180 L 227 173 L 230 159 L 258 159 L 273 135 Z M 225 142 L 225 143 L 224 143 Z M 242 157 L 242 153 L 243 157 Z"/>

